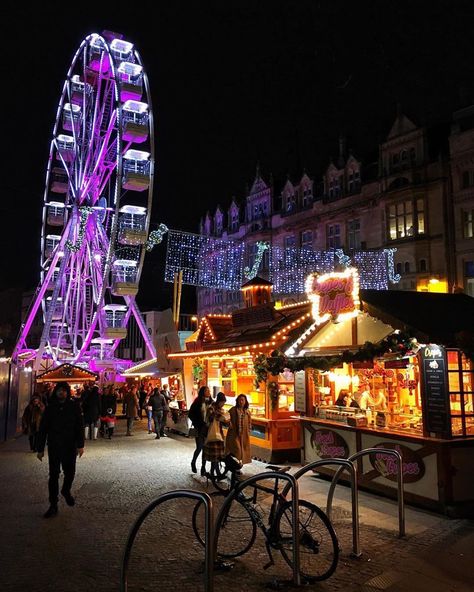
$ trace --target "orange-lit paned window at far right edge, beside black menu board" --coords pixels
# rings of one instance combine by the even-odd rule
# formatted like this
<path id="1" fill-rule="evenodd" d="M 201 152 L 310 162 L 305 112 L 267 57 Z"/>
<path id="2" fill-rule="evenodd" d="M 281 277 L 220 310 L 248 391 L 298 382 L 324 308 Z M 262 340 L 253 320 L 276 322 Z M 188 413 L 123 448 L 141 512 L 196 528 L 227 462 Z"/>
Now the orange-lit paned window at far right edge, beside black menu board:
<path id="1" fill-rule="evenodd" d="M 453 437 L 474 435 L 473 364 L 456 349 L 446 350 Z"/>

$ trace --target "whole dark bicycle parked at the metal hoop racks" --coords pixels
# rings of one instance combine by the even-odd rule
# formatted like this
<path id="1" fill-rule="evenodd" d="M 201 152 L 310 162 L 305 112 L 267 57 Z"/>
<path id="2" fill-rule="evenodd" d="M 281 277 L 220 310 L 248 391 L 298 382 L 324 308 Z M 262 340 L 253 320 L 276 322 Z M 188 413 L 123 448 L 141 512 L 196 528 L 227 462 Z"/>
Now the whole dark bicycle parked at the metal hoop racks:
<path id="1" fill-rule="evenodd" d="M 247 495 L 246 488 L 243 488 L 237 493 L 227 510 L 223 512 L 224 500 L 228 495 L 233 494 L 240 482 L 235 467 L 231 468 L 225 464 L 220 468 L 218 476 L 210 475 L 211 481 L 218 488 L 218 491 L 210 494 L 217 512 L 215 536 L 218 556 L 230 559 L 240 557 L 250 551 L 255 542 L 258 527 L 265 538 L 265 547 L 269 557 L 264 569 L 274 565 L 272 555 L 274 550 L 278 550 L 292 568 L 292 503 L 279 491 L 279 479 L 275 479 L 273 487 L 262 484 L 251 485 L 249 487 L 250 495 Z M 267 469 L 282 473 L 287 472 L 290 468 L 267 466 Z M 228 489 L 226 489 L 227 485 Z M 259 492 L 272 496 L 267 524 L 265 523 L 265 512 L 257 501 Z M 331 522 L 320 508 L 306 500 L 299 501 L 298 522 L 302 578 L 309 583 L 329 578 L 336 570 L 339 561 L 339 544 Z M 192 525 L 196 538 L 204 545 L 204 511 L 201 502 L 196 504 L 194 508 Z"/>

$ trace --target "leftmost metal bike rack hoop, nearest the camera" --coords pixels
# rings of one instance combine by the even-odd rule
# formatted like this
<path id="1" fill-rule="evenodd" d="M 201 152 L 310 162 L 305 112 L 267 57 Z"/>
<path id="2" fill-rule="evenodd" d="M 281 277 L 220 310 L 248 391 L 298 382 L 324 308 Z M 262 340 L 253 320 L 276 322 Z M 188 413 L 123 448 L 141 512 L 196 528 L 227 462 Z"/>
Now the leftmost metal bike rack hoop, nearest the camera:
<path id="1" fill-rule="evenodd" d="M 212 525 L 212 514 L 213 514 L 213 507 L 212 507 L 212 499 L 210 498 L 207 493 L 201 491 L 194 491 L 192 489 L 178 489 L 175 491 L 169 491 L 168 493 L 163 493 L 155 500 L 153 500 L 138 516 L 130 533 L 128 535 L 127 544 L 125 545 L 125 551 L 122 558 L 122 565 L 120 569 L 120 591 L 127 592 L 128 590 L 128 565 L 130 561 L 130 554 L 132 552 L 133 543 L 135 541 L 135 537 L 140 530 L 141 525 L 145 518 L 159 505 L 164 502 L 170 501 L 172 499 L 194 499 L 197 501 L 202 501 L 205 506 L 205 526 L 204 526 L 204 533 L 205 533 L 205 578 L 204 578 L 204 590 L 205 592 L 213 592 L 214 590 L 214 529 Z"/>

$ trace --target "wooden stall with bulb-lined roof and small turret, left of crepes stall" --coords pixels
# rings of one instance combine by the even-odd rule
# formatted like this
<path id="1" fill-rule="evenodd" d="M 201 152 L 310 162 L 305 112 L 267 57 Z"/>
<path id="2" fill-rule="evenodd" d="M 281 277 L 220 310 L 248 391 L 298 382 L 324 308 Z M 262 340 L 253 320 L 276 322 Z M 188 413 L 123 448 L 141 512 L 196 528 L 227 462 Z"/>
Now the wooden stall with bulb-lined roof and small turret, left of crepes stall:
<path id="1" fill-rule="evenodd" d="M 277 308 L 271 301 L 271 284 L 254 278 L 242 287 L 245 308 L 229 315 L 207 315 L 199 325 L 197 339 L 186 352 L 169 354 L 183 359 L 184 373 L 193 374 L 196 388 L 206 384 L 212 394 L 227 397 L 226 408 L 243 393 L 252 415 L 251 451 L 267 462 L 300 458 L 300 421 L 294 417 L 292 373 L 267 376 L 257 386 L 258 360 L 284 347 L 297 331 L 311 322 L 306 305 Z M 304 310 L 303 310 L 304 309 Z"/>

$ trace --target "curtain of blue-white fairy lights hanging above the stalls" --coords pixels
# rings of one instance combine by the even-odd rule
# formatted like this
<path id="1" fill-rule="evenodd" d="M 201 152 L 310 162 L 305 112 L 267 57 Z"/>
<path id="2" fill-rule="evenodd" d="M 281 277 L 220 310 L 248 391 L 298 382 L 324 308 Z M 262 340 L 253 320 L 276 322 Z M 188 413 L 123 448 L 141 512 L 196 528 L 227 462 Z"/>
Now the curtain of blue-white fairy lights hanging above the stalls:
<path id="1" fill-rule="evenodd" d="M 163 234 L 157 235 L 156 244 L 163 240 Z M 264 257 L 266 251 L 268 257 Z M 301 294 L 310 273 L 325 274 L 353 266 L 359 272 L 361 289 L 387 290 L 389 283 L 400 281 L 394 270 L 395 251 L 355 251 L 349 256 L 342 249 L 283 248 L 265 241 L 249 245 L 168 229 L 165 281 L 173 282 L 181 271 L 183 284 L 237 291 L 263 273 L 276 294 Z"/>

